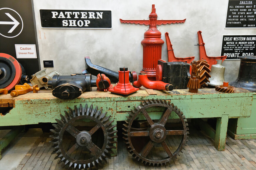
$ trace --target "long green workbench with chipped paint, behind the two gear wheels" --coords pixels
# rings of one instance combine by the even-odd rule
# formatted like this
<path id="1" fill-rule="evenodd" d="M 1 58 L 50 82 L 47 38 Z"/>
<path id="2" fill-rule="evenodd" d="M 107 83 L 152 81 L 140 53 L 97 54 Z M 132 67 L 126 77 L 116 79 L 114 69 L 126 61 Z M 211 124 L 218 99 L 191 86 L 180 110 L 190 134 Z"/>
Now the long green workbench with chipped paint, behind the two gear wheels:
<path id="1" fill-rule="evenodd" d="M 215 89 L 199 89 L 198 93 L 189 93 L 188 89 L 173 91 L 157 91 L 149 95 L 146 90 L 139 90 L 127 97 L 110 92 L 85 92 L 74 100 L 61 100 L 51 93 L 27 93 L 12 98 L 0 96 L 1 107 L 13 107 L 9 113 L 2 113 L 0 126 L 16 126 L 37 123 L 56 123 L 55 118 L 64 114 L 68 107 L 74 108 L 80 103 L 93 104 L 112 115 L 114 123 L 126 120 L 133 106 L 137 107 L 143 100 L 164 99 L 177 105 L 186 118 L 217 118 L 216 133 L 213 136 L 215 147 L 219 151 L 225 149 L 227 125 L 229 118 L 247 118 L 251 114 L 253 93 L 237 88 L 235 93 L 221 93 Z M 150 112 L 152 119 L 159 119 L 162 113 Z M 175 118 L 175 117 L 174 117 Z M 0 142 L 1 144 L 1 142 Z"/>

